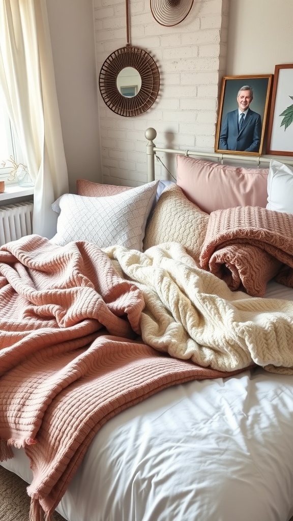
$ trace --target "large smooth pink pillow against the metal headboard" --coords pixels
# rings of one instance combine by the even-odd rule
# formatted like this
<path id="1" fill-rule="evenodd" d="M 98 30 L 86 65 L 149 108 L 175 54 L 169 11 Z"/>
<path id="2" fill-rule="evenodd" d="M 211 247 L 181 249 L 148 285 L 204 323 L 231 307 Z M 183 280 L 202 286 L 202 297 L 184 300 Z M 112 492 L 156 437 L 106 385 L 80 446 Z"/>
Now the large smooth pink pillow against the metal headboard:
<path id="1" fill-rule="evenodd" d="M 177 156 L 177 184 L 192 203 L 208 214 L 235 206 L 265 208 L 268 170 Z"/>

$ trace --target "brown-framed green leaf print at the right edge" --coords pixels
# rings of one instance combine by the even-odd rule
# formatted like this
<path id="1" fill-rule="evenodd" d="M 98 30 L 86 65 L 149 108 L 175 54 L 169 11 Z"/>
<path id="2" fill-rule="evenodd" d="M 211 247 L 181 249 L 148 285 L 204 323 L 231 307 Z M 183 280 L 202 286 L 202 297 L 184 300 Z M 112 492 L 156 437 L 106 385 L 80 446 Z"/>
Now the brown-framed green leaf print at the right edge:
<path id="1" fill-rule="evenodd" d="M 271 111 L 270 111 L 270 119 L 268 121 L 268 129 L 267 129 L 267 147 L 266 147 L 266 153 L 267 154 L 274 154 L 274 155 L 286 155 L 286 156 L 293 156 L 293 120 L 291 123 L 289 123 L 288 126 L 284 125 L 284 110 L 287 110 L 289 107 L 288 105 L 292 106 L 292 118 L 293 118 L 293 101 L 290 104 L 290 101 L 285 102 L 284 97 L 284 103 L 283 101 L 279 100 L 279 96 L 282 95 L 283 91 L 285 94 L 286 90 L 286 99 L 291 97 L 293 100 L 293 85 L 291 82 L 288 82 L 287 84 L 284 84 L 284 74 L 289 69 L 293 69 L 293 64 L 283 64 L 283 65 L 276 65 L 275 66 L 275 74 L 274 74 L 274 82 L 273 82 L 273 92 L 272 92 L 272 103 L 271 103 Z M 283 74 L 282 74 L 283 71 Z M 291 71 L 293 77 L 293 70 Z M 280 79 L 280 76 L 282 75 L 282 79 Z M 291 78 L 290 78 L 291 80 Z M 290 88 L 287 90 L 287 85 Z M 292 86 L 291 86 L 292 85 Z M 289 94 L 290 92 L 290 94 Z M 280 112 L 281 110 L 281 112 Z M 280 112 L 280 113 L 279 113 Z M 283 117 L 283 120 L 280 119 Z M 275 150 L 275 144 L 276 139 L 274 140 L 274 135 L 276 135 L 276 130 L 280 129 L 280 132 L 286 132 L 287 128 L 290 126 L 289 129 L 289 135 L 286 136 L 286 141 L 290 141 L 291 147 L 290 150 Z M 285 128 L 284 128 L 285 127 Z M 287 145 L 286 145 L 287 146 Z M 282 146 L 279 148 L 283 148 Z M 287 146 L 288 148 L 288 146 Z"/>

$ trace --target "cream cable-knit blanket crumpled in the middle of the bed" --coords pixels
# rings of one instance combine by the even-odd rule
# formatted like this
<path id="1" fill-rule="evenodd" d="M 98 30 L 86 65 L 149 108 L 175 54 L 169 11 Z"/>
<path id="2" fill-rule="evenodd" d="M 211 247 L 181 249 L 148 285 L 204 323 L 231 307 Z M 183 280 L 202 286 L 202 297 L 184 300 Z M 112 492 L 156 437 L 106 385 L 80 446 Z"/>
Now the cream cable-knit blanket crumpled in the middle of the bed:
<path id="1" fill-rule="evenodd" d="M 177 243 L 107 253 L 143 292 L 145 343 L 213 369 L 293 374 L 293 302 L 232 292 Z"/>

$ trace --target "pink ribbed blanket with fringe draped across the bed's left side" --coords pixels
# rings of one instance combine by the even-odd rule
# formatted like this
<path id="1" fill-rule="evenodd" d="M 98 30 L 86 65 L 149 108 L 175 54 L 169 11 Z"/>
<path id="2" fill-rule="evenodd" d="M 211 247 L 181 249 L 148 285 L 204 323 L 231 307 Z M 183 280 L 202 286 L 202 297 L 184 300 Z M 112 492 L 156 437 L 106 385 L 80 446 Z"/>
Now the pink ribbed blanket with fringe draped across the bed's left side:
<path id="1" fill-rule="evenodd" d="M 30 521 L 51 514 L 109 418 L 175 383 L 227 376 L 141 342 L 142 293 L 97 246 L 0 248 L 0 459 L 23 446 Z"/>

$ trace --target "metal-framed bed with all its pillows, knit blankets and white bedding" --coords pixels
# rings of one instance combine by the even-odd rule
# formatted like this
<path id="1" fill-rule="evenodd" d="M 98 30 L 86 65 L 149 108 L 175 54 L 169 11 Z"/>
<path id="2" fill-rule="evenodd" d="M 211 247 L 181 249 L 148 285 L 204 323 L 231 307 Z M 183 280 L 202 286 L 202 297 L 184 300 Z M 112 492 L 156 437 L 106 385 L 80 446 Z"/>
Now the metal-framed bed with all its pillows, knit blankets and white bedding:
<path id="1" fill-rule="evenodd" d="M 289 521 L 292 168 L 154 181 L 146 135 L 145 185 L 79 180 L 0 249 L 1 465 L 30 521 Z"/>

